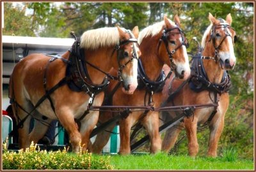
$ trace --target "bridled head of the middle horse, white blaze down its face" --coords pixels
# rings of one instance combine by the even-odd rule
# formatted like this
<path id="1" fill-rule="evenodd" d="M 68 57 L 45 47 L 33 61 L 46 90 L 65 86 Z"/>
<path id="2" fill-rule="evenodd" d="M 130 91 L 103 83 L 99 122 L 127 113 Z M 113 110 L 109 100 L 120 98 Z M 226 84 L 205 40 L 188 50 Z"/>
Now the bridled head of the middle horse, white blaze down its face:
<path id="1" fill-rule="evenodd" d="M 164 15 L 164 25 L 161 30 L 161 42 L 158 53 L 163 61 L 175 72 L 175 77 L 186 80 L 190 75 L 188 54 L 186 47 L 188 41 L 184 32 L 180 29 L 180 20 L 177 15 L 174 22 Z M 167 54 L 166 54 L 167 51 Z"/>

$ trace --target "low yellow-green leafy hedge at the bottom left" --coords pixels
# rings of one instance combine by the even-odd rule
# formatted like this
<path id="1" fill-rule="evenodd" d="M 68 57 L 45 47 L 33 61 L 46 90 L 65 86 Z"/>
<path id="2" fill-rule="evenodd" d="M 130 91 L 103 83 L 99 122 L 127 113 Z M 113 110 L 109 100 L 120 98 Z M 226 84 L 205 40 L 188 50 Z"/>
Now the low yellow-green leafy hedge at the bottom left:
<path id="1" fill-rule="evenodd" d="M 3 169 L 113 169 L 109 157 L 92 156 L 87 152 L 67 153 L 67 150 L 46 152 L 31 144 L 19 153 L 3 151 Z M 83 154 L 82 154 L 83 153 Z"/>

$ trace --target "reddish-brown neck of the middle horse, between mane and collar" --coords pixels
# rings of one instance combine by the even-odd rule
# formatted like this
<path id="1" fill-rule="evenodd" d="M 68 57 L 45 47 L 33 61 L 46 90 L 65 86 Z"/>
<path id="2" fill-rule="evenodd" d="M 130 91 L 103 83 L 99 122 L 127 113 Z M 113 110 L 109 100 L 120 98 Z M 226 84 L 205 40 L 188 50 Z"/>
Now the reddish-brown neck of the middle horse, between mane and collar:
<path id="1" fill-rule="evenodd" d="M 144 39 L 140 45 L 141 63 L 147 77 L 152 81 L 156 81 L 164 65 L 157 52 L 157 43 L 159 40 L 152 40 L 148 37 Z"/>

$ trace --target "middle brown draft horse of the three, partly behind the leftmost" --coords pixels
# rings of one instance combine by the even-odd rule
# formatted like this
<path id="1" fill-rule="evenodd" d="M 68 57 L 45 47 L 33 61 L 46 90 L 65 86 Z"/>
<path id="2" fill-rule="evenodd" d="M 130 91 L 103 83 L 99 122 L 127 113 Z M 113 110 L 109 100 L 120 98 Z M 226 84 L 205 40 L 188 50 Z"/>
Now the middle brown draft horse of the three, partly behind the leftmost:
<path id="1" fill-rule="evenodd" d="M 147 106 L 159 107 L 161 103 L 161 89 L 164 84 L 162 68 L 164 64 L 171 66 L 175 76 L 180 80 L 186 80 L 190 75 L 188 54 L 186 52 L 187 41 L 184 33 L 179 28 L 180 20 L 176 15 L 174 22 L 164 16 L 162 22 L 150 25 L 140 32 L 138 43 L 140 44 L 141 58 L 139 61 L 139 85 L 134 94 L 123 94 L 118 88 L 113 94 L 113 106 Z M 111 95 L 116 82 L 110 83 L 106 95 Z M 152 97 L 151 97 L 152 96 Z M 152 98 L 152 101 L 150 99 Z M 148 101 L 146 101 L 146 99 Z M 109 103 L 109 104 L 111 104 Z M 115 117 L 117 113 L 101 111 L 99 122 L 106 122 Z M 131 111 L 131 113 L 119 120 L 120 125 L 120 154 L 130 154 L 130 132 L 136 122 L 141 124 L 150 135 L 150 152 L 161 150 L 161 138 L 159 136 L 159 113 L 157 111 Z M 112 131 L 116 124 L 109 125 L 108 131 Z M 100 154 L 102 148 L 108 142 L 110 133 L 102 131 L 97 134 L 93 143 L 93 152 Z"/>

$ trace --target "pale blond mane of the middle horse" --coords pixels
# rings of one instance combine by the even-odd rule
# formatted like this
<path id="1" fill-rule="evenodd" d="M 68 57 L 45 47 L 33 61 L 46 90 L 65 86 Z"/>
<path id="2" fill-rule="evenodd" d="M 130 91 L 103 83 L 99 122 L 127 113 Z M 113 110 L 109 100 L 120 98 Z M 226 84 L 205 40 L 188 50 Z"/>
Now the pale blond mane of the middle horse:
<path id="1" fill-rule="evenodd" d="M 168 19 L 170 24 L 175 25 L 172 20 Z M 156 34 L 159 34 L 163 26 L 165 25 L 164 21 L 157 22 L 156 24 L 149 25 L 148 27 L 145 27 L 142 31 L 140 31 L 138 43 L 140 45 L 143 38 L 146 38 L 147 36 L 155 36 Z M 176 26 L 176 25 L 175 25 Z"/>

